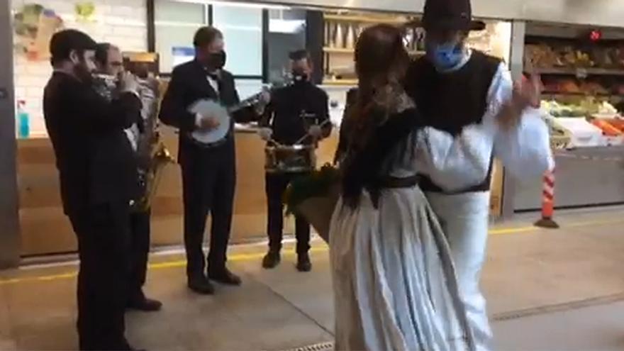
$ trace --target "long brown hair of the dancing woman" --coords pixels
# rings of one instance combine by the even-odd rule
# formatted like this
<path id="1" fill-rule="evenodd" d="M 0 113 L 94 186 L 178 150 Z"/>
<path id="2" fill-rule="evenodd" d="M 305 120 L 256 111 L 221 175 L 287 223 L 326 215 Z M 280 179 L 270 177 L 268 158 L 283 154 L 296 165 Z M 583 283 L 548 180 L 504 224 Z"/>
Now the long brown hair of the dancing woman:
<path id="1" fill-rule="evenodd" d="M 392 101 L 385 100 L 393 99 L 403 91 L 409 55 L 403 45 L 401 30 L 389 24 L 379 24 L 362 31 L 357 38 L 354 58 L 357 100 L 346 117 L 351 127 L 350 143 L 357 147 L 365 142 L 375 126 L 384 122 L 373 119 L 370 111 L 381 109 L 381 117 L 387 117 Z"/>

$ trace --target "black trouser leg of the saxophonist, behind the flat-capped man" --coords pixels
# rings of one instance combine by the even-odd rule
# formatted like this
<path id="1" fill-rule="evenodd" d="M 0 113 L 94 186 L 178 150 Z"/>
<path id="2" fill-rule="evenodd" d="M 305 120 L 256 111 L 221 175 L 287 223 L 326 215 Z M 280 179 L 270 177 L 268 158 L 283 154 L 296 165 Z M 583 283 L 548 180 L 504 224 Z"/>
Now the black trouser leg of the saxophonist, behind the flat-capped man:
<path id="1" fill-rule="evenodd" d="M 130 214 L 130 282 L 128 299 L 143 301 L 143 285 L 147 277 L 147 258 L 150 255 L 150 211 Z"/>

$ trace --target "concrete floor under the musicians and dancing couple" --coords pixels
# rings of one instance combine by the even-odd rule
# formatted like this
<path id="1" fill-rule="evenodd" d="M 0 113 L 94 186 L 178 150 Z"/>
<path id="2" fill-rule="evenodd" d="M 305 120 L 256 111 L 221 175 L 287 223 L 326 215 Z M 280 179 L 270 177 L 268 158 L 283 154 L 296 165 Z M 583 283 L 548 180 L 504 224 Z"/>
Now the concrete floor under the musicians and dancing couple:
<path id="1" fill-rule="evenodd" d="M 497 350 L 624 350 L 624 208 L 572 211 L 562 228 L 531 219 L 494 225 L 483 286 Z M 313 245 L 314 269 L 260 268 L 264 245 L 232 247 L 240 288 L 191 294 L 183 256 L 152 255 L 146 291 L 160 313 L 129 313 L 128 338 L 148 350 L 291 350 L 333 340 L 327 247 Z M 72 350 L 75 265 L 0 272 L 0 350 Z"/>

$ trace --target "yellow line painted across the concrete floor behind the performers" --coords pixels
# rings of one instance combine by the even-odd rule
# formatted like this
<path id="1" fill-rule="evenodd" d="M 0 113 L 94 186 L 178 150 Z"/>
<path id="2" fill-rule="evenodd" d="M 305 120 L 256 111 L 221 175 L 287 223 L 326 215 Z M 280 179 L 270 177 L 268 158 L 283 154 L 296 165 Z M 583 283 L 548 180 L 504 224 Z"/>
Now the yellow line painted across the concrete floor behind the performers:
<path id="1" fill-rule="evenodd" d="M 610 224 L 620 224 L 624 223 L 624 220 L 608 220 L 608 221 L 587 221 L 587 222 L 579 222 L 579 223 L 569 223 L 564 225 L 561 229 L 565 228 L 579 228 L 579 227 L 589 227 L 592 225 L 610 225 Z M 490 235 L 503 235 L 503 234 L 519 234 L 519 233 L 531 233 L 542 230 L 542 228 L 537 228 L 535 226 L 525 226 L 525 227 L 516 227 L 516 228 L 500 228 L 500 229 L 491 229 L 489 230 Z M 326 252 L 328 247 L 322 245 L 320 247 L 312 247 L 310 250 L 312 253 L 314 252 Z M 284 255 L 291 256 L 294 255 L 294 252 L 284 252 Z M 228 257 L 228 261 L 230 262 L 250 262 L 250 261 L 258 261 L 262 260 L 264 257 L 264 252 L 258 253 L 244 253 L 244 254 L 235 254 L 230 255 Z M 179 268 L 186 266 L 186 260 L 176 260 L 176 261 L 167 261 L 167 262 L 157 262 L 150 264 L 150 269 L 166 269 L 166 268 Z M 50 282 L 52 280 L 60 280 L 60 279 L 73 279 L 77 276 L 77 271 L 65 272 L 60 274 L 50 274 L 39 277 L 21 277 L 21 278 L 10 278 L 10 279 L 0 279 L 0 286 L 9 285 L 9 284 L 18 284 L 18 283 L 26 283 L 26 282 Z"/>

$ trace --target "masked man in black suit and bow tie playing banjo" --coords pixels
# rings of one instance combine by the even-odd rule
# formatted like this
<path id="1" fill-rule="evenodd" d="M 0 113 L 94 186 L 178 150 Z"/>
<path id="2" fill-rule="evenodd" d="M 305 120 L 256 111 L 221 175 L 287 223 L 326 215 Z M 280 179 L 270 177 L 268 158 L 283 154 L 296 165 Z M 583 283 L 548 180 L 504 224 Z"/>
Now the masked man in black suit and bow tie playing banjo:
<path id="1" fill-rule="evenodd" d="M 215 116 L 189 112 L 200 99 L 212 99 L 223 106 L 239 103 L 234 78 L 225 66 L 223 34 L 202 27 L 194 36 L 195 59 L 175 67 L 160 109 L 160 120 L 179 128 L 179 164 L 182 166 L 184 197 L 184 245 L 188 286 L 199 294 L 213 294 L 210 279 L 240 285 L 238 276 L 225 267 L 232 223 L 236 183 L 234 121 L 255 118 L 252 108 L 233 113 L 230 130 L 223 140 L 202 145 L 193 138 L 195 130 L 218 127 Z M 211 213 L 210 253 L 204 262 L 204 230 Z"/>

